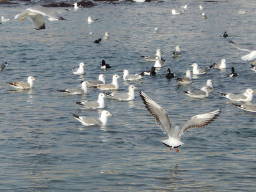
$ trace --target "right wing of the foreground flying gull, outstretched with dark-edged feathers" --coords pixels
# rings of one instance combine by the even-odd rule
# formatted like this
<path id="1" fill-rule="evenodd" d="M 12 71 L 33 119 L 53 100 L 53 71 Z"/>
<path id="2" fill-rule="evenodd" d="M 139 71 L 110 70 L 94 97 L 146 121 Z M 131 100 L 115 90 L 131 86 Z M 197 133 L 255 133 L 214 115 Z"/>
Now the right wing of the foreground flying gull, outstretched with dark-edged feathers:
<path id="1" fill-rule="evenodd" d="M 211 124 L 211 122 L 213 122 L 217 116 L 220 115 L 220 112 L 221 109 L 218 109 L 210 113 L 192 116 L 184 125 L 182 125 L 178 136 L 182 136 L 182 134 L 184 134 L 184 132 L 188 131 L 189 129 L 201 128 Z"/>

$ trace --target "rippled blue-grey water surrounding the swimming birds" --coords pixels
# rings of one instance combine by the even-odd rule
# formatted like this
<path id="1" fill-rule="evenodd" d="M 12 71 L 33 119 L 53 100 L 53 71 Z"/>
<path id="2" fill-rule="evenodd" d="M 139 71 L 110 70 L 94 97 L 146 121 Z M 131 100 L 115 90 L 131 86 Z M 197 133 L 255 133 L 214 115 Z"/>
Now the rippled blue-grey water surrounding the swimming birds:
<path id="1" fill-rule="evenodd" d="M 182 15 L 170 10 L 188 4 Z M 198 5 L 206 5 L 204 11 Z M 241 60 L 239 51 L 221 35 L 237 44 L 255 45 L 254 1 L 164 1 L 151 3 L 99 3 L 93 8 L 61 13 L 65 21 L 50 22 L 36 31 L 26 18 L 13 17 L 29 4 L 1 5 L 1 15 L 11 19 L 0 24 L 0 62 L 9 65 L 0 72 L 0 188 L 1 191 L 255 191 L 255 114 L 232 106 L 217 92 L 256 90 L 256 74 Z M 208 19 L 201 19 L 205 12 Z M 98 18 L 87 23 L 88 16 Z M 153 33 L 157 27 L 159 33 Z M 93 38 L 86 35 L 94 33 Z M 104 33 L 109 40 L 93 44 Z M 173 59 L 175 46 L 182 57 Z M 106 99 L 113 113 L 106 127 L 84 127 L 71 113 L 99 116 L 100 110 L 80 108 L 76 101 L 96 100 L 99 90 L 86 95 L 65 95 L 56 90 L 79 87 L 77 81 L 97 79 L 103 73 L 110 83 L 113 74 L 148 70 L 154 62 L 140 58 L 163 50 L 165 66 L 155 77 L 132 83 L 118 79 L 120 92 L 129 84 L 159 103 L 173 125 L 221 108 L 212 124 L 182 136 L 180 152 L 161 144 L 166 139 L 141 101 Z M 192 63 L 199 66 L 227 61 L 224 71 L 212 68 L 193 78 L 191 86 L 177 86 L 165 78 L 167 68 L 184 76 Z M 101 70 L 102 60 L 112 65 Z M 72 68 L 84 62 L 86 74 Z M 227 77 L 235 67 L 239 77 Z M 32 90 L 13 91 L 6 81 L 36 77 Z M 182 91 L 200 88 L 207 79 L 214 90 L 207 99 L 189 99 Z M 255 102 L 253 99 L 252 103 Z"/>

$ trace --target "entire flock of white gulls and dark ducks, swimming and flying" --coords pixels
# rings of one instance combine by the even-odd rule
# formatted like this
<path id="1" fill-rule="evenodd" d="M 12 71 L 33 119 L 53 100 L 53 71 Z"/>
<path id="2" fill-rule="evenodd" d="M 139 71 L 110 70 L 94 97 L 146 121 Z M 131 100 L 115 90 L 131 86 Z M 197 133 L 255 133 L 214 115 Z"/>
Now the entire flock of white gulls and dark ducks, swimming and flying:
<path id="1" fill-rule="evenodd" d="M 144 1 L 136 1 L 138 3 L 143 3 Z M 79 8 L 83 8 L 81 6 L 77 6 L 77 3 L 74 3 L 74 10 L 78 10 Z M 186 9 L 188 8 L 188 5 L 180 6 L 180 10 L 171 10 L 173 15 L 180 15 L 186 13 Z M 204 10 L 206 6 L 199 6 L 199 10 Z M 44 16 L 49 17 L 49 20 L 65 20 L 63 17 L 60 17 L 60 13 L 70 11 L 70 9 L 65 10 L 55 10 L 54 8 L 45 8 L 42 6 L 33 6 L 31 8 L 27 8 L 22 13 L 19 13 L 15 15 L 15 19 L 22 17 L 20 20 L 24 20 L 25 17 L 28 15 L 33 25 L 35 26 L 35 29 L 45 29 L 45 22 L 44 22 Z M 244 12 L 245 13 L 245 12 Z M 239 13 L 241 14 L 241 13 Z M 202 13 L 202 19 L 207 19 L 207 16 L 205 13 Z M 4 19 L 2 16 L 2 22 L 8 22 L 10 19 Z M 92 19 L 92 17 L 88 17 L 88 24 L 93 24 L 93 22 L 97 22 L 99 19 Z M 152 33 L 159 33 L 159 28 L 154 28 L 152 30 Z M 87 37 L 93 37 L 93 33 L 89 33 Z M 227 32 L 223 34 L 223 38 L 228 38 Z M 109 40 L 109 32 L 106 32 L 104 37 L 104 40 Z M 100 44 L 101 38 L 95 40 L 94 44 Z M 234 47 L 236 47 L 239 50 L 242 51 L 248 51 L 249 54 L 246 54 L 241 57 L 241 60 L 244 61 L 250 61 L 250 65 L 252 67 L 252 70 L 256 72 L 256 49 L 250 48 L 250 47 L 243 47 L 242 45 L 238 45 L 234 43 L 232 40 L 228 40 L 228 43 Z M 170 52 L 170 55 L 172 55 L 173 58 L 179 58 L 182 56 L 182 51 L 180 51 L 180 46 L 176 45 L 175 51 Z M 58 92 L 61 93 L 67 93 L 70 95 L 77 95 L 77 94 L 87 94 L 88 88 L 98 89 L 99 95 L 97 95 L 97 100 L 83 100 L 83 101 L 76 101 L 75 103 L 82 108 L 87 109 L 104 109 L 105 108 L 105 99 L 108 97 L 109 99 L 116 99 L 116 100 L 122 100 L 122 101 L 128 101 L 128 100 L 134 100 L 135 99 L 135 92 L 134 90 L 138 89 L 134 84 L 129 85 L 128 92 L 120 93 L 118 91 L 119 85 L 118 85 L 118 79 L 122 79 L 122 81 L 129 81 L 132 83 L 136 83 L 138 81 L 143 81 L 143 78 L 147 76 L 156 76 L 158 72 L 161 70 L 161 68 L 164 67 L 165 59 L 161 56 L 161 49 L 156 50 L 156 54 L 152 56 L 143 55 L 141 56 L 141 59 L 154 62 L 154 65 L 151 67 L 150 70 L 145 70 L 143 72 L 138 72 L 137 74 L 132 74 L 129 72 L 129 70 L 124 69 L 123 70 L 123 76 L 119 76 L 118 74 L 112 74 L 112 82 L 107 84 L 105 81 L 105 75 L 99 74 L 98 79 L 88 79 L 87 81 L 82 81 L 81 88 L 65 88 L 63 90 L 58 90 Z M 254 63 L 252 63 L 252 61 Z M 0 70 L 4 70 L 4 68 L 7 67 L 7 62 L 3 63 L 0 67 Z M 84 76 L 86 74 L 86 71 L 84 70 L 84 63 L 79 63 L 79 67 L 74 67 L 72 69 L 72 72 L 74 75 L 77 76 Z M 204 76 L 206 73 L 211 72 L 212 68 L 216 68 L 218 70 L 223 70 L 227 68 L 226 60 L 222 59 L 220 63 L 213 63 L 209 66 L 200 66 L 198 63 L 193 63 L 190 65 L 192 67 L 192 70 L 186 70 L 186 76 L 185 77 L 176 77 L 175 74 L 172 72 L 171 68 L 167 69 L 167 73 L 165 77 L 167 79 L 175 79 L 177 81 L 177 86 L 184 86 L 186 84 L 193 83 L 193 77 L 191 77 L 191 74 L 193 76 L 196 76 L 200 78 L 200 76 Z M 105 60 L 102 60 L 101 66 L 99 65 L 99 68 L 102 70 L 108 70 L 111 72 L 111 65 L 107 64 Z M 227 77 L 237 77 L 239 74 L 235 72 L 234 67 L 232 67 L 231 74 L 229 74 Z M 14 82 L 6 82 L 10 84 L 10 86 L 14 87 L 15 89 L 22 89 L 22 90 L 28 90 L 33 88 L 33 81 L 35 81 L 36 78 L 33 76 L 28 77 L 28 81 L 14 81 Z M 207 97 L 211 96 L 211 93 L 213 91 L 212 86 L 212 79 L 208 79 L 205 86 L 202 86 L 199 89 L 195 90 L 186 90 L 183 93 L 187 95 L 188 97 L 191 97 L 192 99 L 206 99 Z M 248 102 L 251 102 L 253 99 L 253 93 L 255 93 L 251 88 L 247 88 L 244 90 L 244 93 L 220 93 L 220 97 L 225 97 L 229 100 L 232 100 L 233 105 L 237 108 L 244 109 L 246 111 L 252 111 L 256 112 L 256 104 L 250 104 Z M 156 119 L 157 124 L 159 124 L 159 127 L 162 129 L 164 134 L 168 134 L 168 140 L 161 141 L 163 145 L 166 147 L 169 147 L 170 149 L 173 148 L 179 148 L 180 146 L 184 145 L 182 141 L 180 141 L 181 136 L 184 134 L 184 132 L 188 131 L 189 129 L 193 128 L 200 128 L 205 127 L 211 122 L 213 122 L 221 113 L 221 109 L 216 109 L 215 111 L 203 113 L 200 115 L 195 115 L 189 118 L 187 122 L 185 122 L 181 127 L 172 127 L 172 124 L 170 122 L 170 119 L 168 118 L 168 115 L 164 111 L 164 109 L 157 104 L 153 99 L 151 99 L 147 93 L 140 91 L 140 97 L 143 103 L 145 104 L 145 107 L 147 108 L 148 112 L 154 116 Z M 238 102 L 238 103 L 237 103 Z M 244 103 L 241 103 L 244 102 Z M 81 124 L 85 126 L 90 125 L 102 125 L 106 126 L 108 122 L 108 116 L 113 116 L 109 111 L 103 110 L 100 114 L 99 118 L 92 118 L 88 116 L 81 116 L 76 115 L 74 113 L 70 113 L 76 120 L 81 122 Z M 179 151 L 177 149 L 177 151 Z"/>

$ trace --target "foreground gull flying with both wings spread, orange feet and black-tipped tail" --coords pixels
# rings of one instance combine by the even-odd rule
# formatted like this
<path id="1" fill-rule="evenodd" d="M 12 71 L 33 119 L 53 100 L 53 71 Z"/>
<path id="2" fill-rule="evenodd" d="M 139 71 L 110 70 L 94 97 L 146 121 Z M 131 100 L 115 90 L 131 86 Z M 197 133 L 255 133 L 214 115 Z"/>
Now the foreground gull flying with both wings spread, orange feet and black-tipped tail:
<path id="1" fill-rule="evenodd" d="M 164 134 L 168 134 L 168 140 L 163 140 L 161 141 L 161 143 L 163 143 L 163 145 L 165 145 L 166 147 L 170 147 L 171 150 L 173 148 L 177 148 L 177 152 L 179 152 L 178 148 L 181 145 L 184 145 L 184 143 L 180 141 L 180 138 L 186 131 L 193 128 L 205 127 L 211 124 L 211 122 L 213 122 L 218 117 L 218 115 L 220 115 L 221 112 L 221 109 L 218 109 L 209 113 L 195 115 L 189 118 L 189 120 L 185 122 L 182 127 L 172 127 L 168 115 L 166 114 L 164 109 L 159 106 L 159 104 L 157 104 L 153 99 L 148 97 L 147 94 L 141 91 L 140 97 L 143 100 L 143 103 L 145 104 L 148 112 L 156 119 L 156 122 L 157 124 L 159 124 L 160 129 L 163 130 Z"/>

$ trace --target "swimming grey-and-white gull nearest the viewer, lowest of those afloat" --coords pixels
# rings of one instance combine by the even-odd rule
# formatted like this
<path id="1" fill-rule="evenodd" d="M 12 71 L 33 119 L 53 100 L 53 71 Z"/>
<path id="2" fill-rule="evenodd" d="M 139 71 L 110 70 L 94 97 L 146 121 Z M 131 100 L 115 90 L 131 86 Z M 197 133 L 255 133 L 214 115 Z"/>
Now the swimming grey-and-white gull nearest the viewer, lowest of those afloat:
<path id="1" fill-rule="evenodd" d="M 109 113 L 109 111 L 106 111 L 106 110 L 101 112 L 100 118 L 92 118 L 92 117 L 88 117 L 88 116 L 79 116 L 79 115 L 76 115 L 74 113 L 70 113 L 70 114 L 73 115 L 74 118 L 76 118 L 76 120 L 79 120 L 79 122 L 81 122 L 81 124 L 85 125 L 85 126 L 90 126 L 90 125 L 106 126 L 107 122 L 108 122 L 108 116 L 113 116 L 111 113 Z"/>

